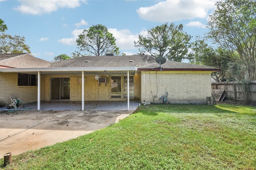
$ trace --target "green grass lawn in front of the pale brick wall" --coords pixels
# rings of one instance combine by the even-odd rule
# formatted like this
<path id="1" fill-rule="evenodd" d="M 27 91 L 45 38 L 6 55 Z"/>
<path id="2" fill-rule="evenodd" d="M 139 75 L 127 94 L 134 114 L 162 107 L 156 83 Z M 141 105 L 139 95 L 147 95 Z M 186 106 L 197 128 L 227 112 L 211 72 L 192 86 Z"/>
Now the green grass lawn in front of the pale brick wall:
<path id="1" fill-rule="evenodd" d="M 256 107 L 140 106 L 104 129 L 12 156 L 2 168 L 254 170 Z"/>

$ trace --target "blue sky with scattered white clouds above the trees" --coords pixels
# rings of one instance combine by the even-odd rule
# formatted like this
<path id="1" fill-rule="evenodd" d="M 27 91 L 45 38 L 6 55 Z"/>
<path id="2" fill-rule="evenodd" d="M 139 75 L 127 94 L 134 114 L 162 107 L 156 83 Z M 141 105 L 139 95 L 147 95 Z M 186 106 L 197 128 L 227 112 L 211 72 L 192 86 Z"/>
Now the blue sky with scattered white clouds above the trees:
<path id="1" fill-rule="evenodd" d="M 182 23 L 193 37 L 208 31 L 216 0 L 0 0 L 0 18 L 9 35 L 24 36 L 34 57 L 53 61 L 77 50 L 84 29 L 102 24 L 116 38 L 121 53 L 138 53 L 134 41 L 148 29 Z"/>

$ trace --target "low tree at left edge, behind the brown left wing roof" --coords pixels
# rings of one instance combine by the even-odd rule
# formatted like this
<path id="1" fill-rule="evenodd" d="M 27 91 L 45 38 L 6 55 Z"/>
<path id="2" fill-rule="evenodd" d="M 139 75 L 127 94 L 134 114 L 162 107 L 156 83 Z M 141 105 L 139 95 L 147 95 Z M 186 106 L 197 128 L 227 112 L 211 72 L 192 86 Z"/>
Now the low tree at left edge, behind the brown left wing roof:
<path id="1" fill-rule="evenodd" d="M 18 35 L 0 34 L 0 53 L 31 53 L 30 47 L 25 44 L 25 37 Z"/>

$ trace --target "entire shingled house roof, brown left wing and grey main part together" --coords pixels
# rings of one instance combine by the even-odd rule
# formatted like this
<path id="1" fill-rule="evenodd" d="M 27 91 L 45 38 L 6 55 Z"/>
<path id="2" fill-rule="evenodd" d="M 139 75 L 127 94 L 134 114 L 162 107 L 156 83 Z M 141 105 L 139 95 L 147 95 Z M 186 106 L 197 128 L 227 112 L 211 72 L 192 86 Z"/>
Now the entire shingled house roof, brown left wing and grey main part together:
<path id="1" fill-rule="evenodd" d="M 130 55 L 130 56 L 83 56 L 59 62 L 51 63 L 42 59 L 33 57 L 28 53 L 24 54 L 0 54 L 0 68 L 103 68 L 103 67 L 137 67 L 138 71 L 151 70 L 192 70 L 192 71 L 220 71 L 219 68 L 202 66 L 197 64 L 180 63 L 175 61 L 166 61 L 161 65 L 155 61 L 156 58 L 148 55 Z"/>

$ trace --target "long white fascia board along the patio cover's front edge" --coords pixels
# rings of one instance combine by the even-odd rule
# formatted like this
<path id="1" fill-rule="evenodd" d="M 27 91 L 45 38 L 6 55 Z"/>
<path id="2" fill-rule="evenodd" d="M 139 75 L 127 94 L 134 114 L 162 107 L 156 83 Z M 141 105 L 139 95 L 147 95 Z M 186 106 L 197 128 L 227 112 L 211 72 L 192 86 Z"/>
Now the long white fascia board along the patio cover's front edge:
<path id="1" fill-rule="evenodd" d="M 0 72 L 34 72 L 34 71 L 127 71 L 138 70 L 138 67 L 51 67 L 51 68 L 0 68 Z"/>

